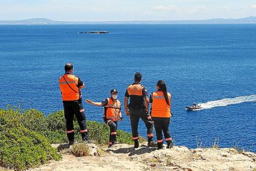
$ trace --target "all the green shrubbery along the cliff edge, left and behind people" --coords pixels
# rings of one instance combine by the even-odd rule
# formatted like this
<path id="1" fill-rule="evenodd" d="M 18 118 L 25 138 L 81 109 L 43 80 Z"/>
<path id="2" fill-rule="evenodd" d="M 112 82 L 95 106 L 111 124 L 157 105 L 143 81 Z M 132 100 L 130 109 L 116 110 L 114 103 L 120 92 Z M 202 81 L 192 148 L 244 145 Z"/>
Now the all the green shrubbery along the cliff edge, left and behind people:
<path id="1" fill-rule="evenodd" d="M 75 138 L 81 140 L 79 126 L 74 121 Z M 109 128 L 100 122 L 88 121 L 90 139 L 98 145 L 108 143 Z M 132 144 L 131 134 L 117 131 L 120 143 Z M 24 170 L 45 164 L 49 160 L 60 160 L 61 155 L 51 144 L 67 143 L 66 123 L 63 111 L 46 116 L 34 109 L 22 110 L 7 107 L 0 109 L 0 166 L 16 170 Z M 76 146 L 74 154 L 83 151 Z M 85 155 L 85 154 L 78 154 Z"/>

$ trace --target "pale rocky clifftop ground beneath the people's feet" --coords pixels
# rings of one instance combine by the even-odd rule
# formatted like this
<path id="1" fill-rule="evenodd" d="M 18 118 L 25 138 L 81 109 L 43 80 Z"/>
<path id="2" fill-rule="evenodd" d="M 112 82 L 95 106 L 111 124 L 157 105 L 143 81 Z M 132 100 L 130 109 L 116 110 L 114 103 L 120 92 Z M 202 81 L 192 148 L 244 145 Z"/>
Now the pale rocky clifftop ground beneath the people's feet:
<path id="1" fill-rule="evenodd" d="M 59 145 L 58 145 L 59 146 Z M 57 148 L 57 147 L 56 147 Z M 90 149 L 98 149 L 90 145 Z M 232 148 L 188 149 L 174 146 L 172 149 L 148 148 L 142 145 L 113 145 L 103 149 L 101 155 L 87 157 L 63 155 L 62 161 L 31 170 L 252 170 L 256 169 L 256 154 L 239 153 Z"/>

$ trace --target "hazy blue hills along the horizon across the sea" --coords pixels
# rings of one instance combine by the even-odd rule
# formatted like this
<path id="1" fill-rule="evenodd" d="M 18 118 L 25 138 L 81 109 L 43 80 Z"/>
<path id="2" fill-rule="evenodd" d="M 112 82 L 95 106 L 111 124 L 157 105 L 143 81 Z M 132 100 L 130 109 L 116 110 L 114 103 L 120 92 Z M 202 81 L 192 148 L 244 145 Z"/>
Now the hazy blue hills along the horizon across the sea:
<path id="1" fill-rule="evenodd" d="M 131 21 L 95 21 L 69 22 L 55 21 L 45 18 L 25 20 L 0 20 L 0 25 L 58 25 L 58 24 L 186 24 L 186 23 L 256 23 L 256 17 L 240 19 L 207 19 L 207 20 L 131 20 Z"/>

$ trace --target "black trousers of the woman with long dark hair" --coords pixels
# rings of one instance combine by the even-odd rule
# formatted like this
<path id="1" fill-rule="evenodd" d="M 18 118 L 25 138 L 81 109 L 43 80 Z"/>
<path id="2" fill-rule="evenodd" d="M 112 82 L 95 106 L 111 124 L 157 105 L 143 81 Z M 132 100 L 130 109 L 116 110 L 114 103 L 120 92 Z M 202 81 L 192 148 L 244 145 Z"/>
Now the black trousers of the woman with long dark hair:
<path id="1" fill-rule="evenodd" d="M 157 143 L 163 145 L 163 134 L 167 144 L 172 141 L 170 137 L 169 124 L 170 117 L 152 117 L 155 126 L 155 133 L 157 134 Z"/>

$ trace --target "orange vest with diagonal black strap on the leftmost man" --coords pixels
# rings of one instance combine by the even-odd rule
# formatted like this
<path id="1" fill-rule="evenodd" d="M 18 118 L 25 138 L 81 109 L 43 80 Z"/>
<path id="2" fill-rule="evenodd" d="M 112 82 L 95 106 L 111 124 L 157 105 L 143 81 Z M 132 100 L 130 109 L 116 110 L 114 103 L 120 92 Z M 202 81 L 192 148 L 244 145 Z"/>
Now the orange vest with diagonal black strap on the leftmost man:
<path id="1" fill-rule="evenodd" d="M 71 74 L 65 74 L 60 77 L 58 83 L 60 84 L 60 92 L 63 101 L 76 101 L 80 99 L 78 77 Z"/>

